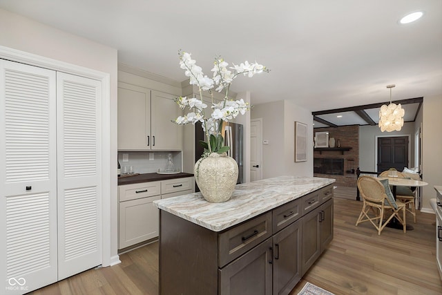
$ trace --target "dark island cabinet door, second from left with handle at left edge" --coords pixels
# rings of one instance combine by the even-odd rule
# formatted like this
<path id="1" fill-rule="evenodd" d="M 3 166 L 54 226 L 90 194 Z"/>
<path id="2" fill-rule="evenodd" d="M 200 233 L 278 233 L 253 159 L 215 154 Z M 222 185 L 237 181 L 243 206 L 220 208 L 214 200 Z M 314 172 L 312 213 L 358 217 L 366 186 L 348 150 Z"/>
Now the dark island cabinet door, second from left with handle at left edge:
<path id="1" fill-rule="evenodd" d="M 302 220 L 273 236 L 273 294 L 289 294 L 301 278 Z"/>

